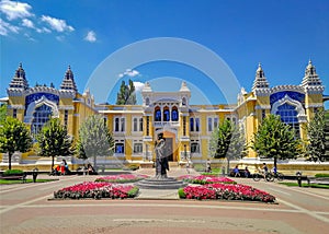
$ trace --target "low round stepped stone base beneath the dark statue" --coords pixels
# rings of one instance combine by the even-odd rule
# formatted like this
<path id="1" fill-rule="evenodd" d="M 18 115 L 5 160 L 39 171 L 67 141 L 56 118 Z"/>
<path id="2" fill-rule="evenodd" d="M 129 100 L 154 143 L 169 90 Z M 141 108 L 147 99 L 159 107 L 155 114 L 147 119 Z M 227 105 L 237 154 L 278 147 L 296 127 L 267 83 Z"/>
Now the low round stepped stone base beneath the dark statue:
<path id="1" fill-rule="evenodd" d="M 188 186 L 184 182 L 179 182 L 172 177 L 168 178 L 146 178 L 135 184 L 139 188 L 146 189 L 178 189 Z"/>

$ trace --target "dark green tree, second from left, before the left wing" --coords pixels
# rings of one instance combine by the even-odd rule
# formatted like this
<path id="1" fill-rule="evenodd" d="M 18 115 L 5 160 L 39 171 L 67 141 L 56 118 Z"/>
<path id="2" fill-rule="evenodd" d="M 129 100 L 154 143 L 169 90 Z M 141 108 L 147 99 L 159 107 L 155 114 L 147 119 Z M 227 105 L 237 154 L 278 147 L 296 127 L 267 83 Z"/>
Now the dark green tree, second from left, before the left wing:
<path id="1" fill-rule="evenodd" d="M 52 156 L 52 169 L 54 168 L 55 156 L 72 155 L 72 138 L 68 134 L 59 118 L 52 118 L 36 136 L 38 154 Z"/>

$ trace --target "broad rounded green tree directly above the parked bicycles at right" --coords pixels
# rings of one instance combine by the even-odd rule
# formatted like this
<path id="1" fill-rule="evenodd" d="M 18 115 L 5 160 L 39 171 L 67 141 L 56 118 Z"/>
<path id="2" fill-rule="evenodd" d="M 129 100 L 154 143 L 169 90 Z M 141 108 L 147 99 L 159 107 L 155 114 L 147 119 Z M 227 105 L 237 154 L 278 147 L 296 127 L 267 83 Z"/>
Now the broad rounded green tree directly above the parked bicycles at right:
<path id="1" fill-rule="evenodd" d="M 280 116 L 266 116 L 251 141 L 260 157 L 274 159 L 274 166 L 279 159 L 294 159 L 300 154 L 300 141 L 294 130 L 281 121 Z"/>

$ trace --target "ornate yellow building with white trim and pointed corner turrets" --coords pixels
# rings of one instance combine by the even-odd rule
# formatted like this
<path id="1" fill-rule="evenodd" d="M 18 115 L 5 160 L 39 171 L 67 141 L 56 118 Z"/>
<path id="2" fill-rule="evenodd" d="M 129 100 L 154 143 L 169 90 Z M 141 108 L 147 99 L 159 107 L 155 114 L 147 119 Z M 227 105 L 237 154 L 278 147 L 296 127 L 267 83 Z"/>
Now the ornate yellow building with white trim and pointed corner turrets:
<path id="1" fill-rule="evenodd" d="M 99 164 L 151 165 L 157 134 L 162 132 L 169 149 L 169 161 L 184 164 L 204 163 L 209 156 L 211 134 L 224 119 L 239 125 L 247 143 L 250 142 L 261 120 L 269 114 L 280 115 L 282 121 L 292 126 L 296 137 L 306 139 L 305 125 L 314 114 L 324 108 L 324 85 L 309 61 L 300 85 L 270 87 L 262 67 L 256 72 L 250 93 L 245 89 L 238 94 L 236 105 L 192 105 L 191 91 L 185 82 L 177 92 L 156 92 L 147 82 L 141 91 L 141 105 L 97 105 L 89 91 L 80 94 L 70 69 L 65 72 L 59 90 L 47 86 L 29 87 L 22 65 L 15 71 L 8 87 L 8 114 L 24 121 L 32 134 L 37 133 L 49 116 L 60 118 L 68 132 L 78 138 L 79 126 L 94 114 L 102 114 L 107 128 L 113 132 L 113 156 L 98 159 Z M 257 157 L 249 150 L 248 157 Z M 60 161 L 61 159 L 58 159 Z M 69 157 L 70 164 L 81 164 Z M 2 155 L 1 165 L 8 165 Z M 15 153 L 15 165 L 44 165 L 47 159 L 34 152 Z"/>

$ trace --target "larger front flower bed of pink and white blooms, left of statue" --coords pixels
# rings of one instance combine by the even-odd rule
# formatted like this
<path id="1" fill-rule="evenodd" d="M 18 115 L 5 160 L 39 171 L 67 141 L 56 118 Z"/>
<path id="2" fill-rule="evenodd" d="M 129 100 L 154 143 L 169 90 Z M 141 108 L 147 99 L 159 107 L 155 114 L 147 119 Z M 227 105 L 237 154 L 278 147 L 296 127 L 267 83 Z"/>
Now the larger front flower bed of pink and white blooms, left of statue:
<path id="1" fill-rule="evenodd" d="M 113 185 L 111 183 L 84 182 L 54 191 L 55 199 L 82 199 L 82 198 L 134 198 L 138 188 L 133 185 Z"/>

